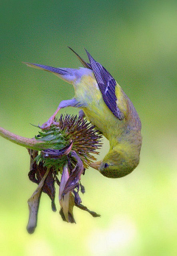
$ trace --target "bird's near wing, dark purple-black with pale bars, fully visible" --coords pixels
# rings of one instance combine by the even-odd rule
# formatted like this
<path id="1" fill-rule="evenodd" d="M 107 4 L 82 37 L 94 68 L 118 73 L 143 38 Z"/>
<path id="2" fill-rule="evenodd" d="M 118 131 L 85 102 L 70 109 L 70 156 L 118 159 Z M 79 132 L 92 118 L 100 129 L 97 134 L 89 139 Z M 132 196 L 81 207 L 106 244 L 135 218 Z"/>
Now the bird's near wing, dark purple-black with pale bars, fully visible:
<path id="1" fill-rule="evenodd" d="M 124 119 L 124 114 L 120 111 L 117 105 L 117 97 L 115 94 L 115 87 L 117 85 L 116 80 L 109 74 L 109 72 L 94 58 L 91 57 L 89 52 L 87 52 L 91 63 L 91 69 L 94 72 L 94 76 L 97 80 L 97 84 L 100 88 L 100 91 L 103 95 L 103 100 L 111 112 L 114 114 L 115 117 L 119 118 L 119 120 Z"/>

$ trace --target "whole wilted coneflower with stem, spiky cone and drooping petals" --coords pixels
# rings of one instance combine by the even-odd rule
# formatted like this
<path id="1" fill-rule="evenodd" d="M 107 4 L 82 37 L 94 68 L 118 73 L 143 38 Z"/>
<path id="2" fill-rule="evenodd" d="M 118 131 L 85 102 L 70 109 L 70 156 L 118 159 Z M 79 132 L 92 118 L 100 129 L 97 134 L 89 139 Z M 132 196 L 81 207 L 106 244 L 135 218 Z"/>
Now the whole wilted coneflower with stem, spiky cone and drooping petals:
<path id="1" fill-rule="evenodd" d="M 82 117 L 66 115 L 55 120 L 48 130 L 39 131 L 33 139 L 27 139 L 0 128 L 0 135 L 5 139 L 24 146 L 30 153 L 29 179 L 38 184 L 37 189 L 28 200 L 30 210 L 27 231 L 35 231 L 38 219 L 38 208 L 41 194 L 46 193 L 55 205 L 55 185 L 59 186 L 60 215 L 63 221 L 75 223 L 73 208 L 86 210 L 93 217 L 96 212 L 90 211 L 82 204 L 81 193 L 85 188 L 80 183 L 82 174 L 97 154 L 101 146 L 101 134 L 94 125 Z M 60 178 L 61 175 L 61 178 Z"/>

